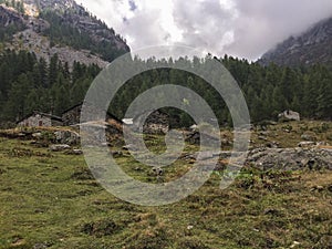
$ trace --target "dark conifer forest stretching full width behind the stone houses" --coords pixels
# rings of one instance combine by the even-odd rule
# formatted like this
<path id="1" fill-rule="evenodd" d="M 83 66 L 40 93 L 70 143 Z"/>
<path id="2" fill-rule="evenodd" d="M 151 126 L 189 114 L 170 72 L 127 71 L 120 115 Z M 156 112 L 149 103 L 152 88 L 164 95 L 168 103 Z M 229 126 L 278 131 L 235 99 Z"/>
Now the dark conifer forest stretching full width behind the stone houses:
<path id="1" fill-rule="evenodd" d="M 159 63 L 156 59 L 134 58 L 142 66 Z M 180 58 L 165 60 L 164 69 L 146 71 L 131 79 L 116 94 L 110 111 L 122 118 L 135 97 L 162 84 L 180 84 L 193 89 L 211 106 L 220 124 L 231 124 L 222 97 L 203 79 L 191 73 L 169 69 L 170 64 L 207 63 L 215 60 Z M 276 120 L 284 110 L 297 111 L 307 118 L 332 118 L 332 73 L 325 65 L 291 69 L 270 64 L 262 66 L 231 56 L 219 59 L 241 87 L 252 122 Z M 15 122 L 34 110 L 60 115 L 64 110 L 82 102 L 101 69 L 97 65 L 62 63 L 58 55 L 50 62 L 38 60 L 33 53 L 4 51 L 0 55 L 0 121 Z M 160 93 L 163 95 L 163 93 Z M 160 96 L 162 96 L 160 95 Z M 179 115 L 183 125 L 191 120 Z"/>

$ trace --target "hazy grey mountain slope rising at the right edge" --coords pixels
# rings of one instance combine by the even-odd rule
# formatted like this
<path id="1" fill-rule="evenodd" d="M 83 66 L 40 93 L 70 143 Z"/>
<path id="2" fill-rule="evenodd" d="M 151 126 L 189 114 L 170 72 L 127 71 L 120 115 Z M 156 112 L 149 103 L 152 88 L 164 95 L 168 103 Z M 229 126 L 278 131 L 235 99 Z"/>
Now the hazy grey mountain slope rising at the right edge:
<path id="1" fill-rule="evenodd" d="M 317 23 L 301 35 L 289 38 L 259 62 L 289 66 L 332 63 L 332 18 Z"/>

